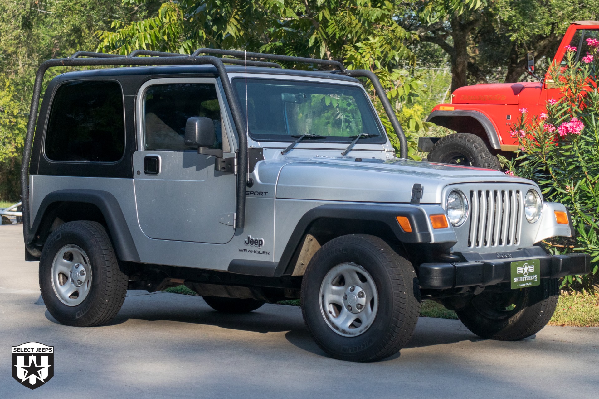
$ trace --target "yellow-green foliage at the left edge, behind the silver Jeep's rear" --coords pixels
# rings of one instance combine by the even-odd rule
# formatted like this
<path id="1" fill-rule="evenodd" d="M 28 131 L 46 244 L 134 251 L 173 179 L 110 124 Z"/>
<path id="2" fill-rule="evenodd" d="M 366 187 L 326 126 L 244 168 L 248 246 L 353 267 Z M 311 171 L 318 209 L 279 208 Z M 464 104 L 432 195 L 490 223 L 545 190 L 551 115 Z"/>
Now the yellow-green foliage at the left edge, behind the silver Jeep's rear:
<path id="1" fill-rule="evenodd" d="M 98 46 L 94 33 L 115 17 L 143 18 L 158 9 L 111 0 L 0 1 L 0 198 L 19 198 L 19 168 L 35 72 L 44 60 Z M 64 70 L 63 70 L 64 71 Z M 63 72 L 47 74 L 49 81 Z"/>

